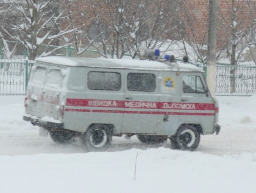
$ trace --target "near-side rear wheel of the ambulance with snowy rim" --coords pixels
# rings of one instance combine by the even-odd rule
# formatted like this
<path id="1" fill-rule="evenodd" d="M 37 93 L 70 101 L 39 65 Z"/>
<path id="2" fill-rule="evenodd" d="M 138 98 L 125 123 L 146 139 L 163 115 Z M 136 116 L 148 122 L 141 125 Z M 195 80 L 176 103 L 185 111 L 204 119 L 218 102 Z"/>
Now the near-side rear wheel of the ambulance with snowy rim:
<path id="1" fill-rule="evenodd" d="M 81 139 L 88 151 L 104 151 L 111 145 L 112 132 L 106 125 L 93 125 L 82 134 Z"/>

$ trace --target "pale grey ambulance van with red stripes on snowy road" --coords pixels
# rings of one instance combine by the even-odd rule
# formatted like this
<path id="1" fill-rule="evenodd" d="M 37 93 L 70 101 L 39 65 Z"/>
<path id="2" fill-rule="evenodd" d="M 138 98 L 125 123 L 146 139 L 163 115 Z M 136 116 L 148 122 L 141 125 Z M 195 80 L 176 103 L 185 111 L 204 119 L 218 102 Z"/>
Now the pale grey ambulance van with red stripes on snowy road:
<path id="1" fill-rule="evenodd" d="M 203 73 L 168 61 L 43 57 L 32 68 L 23 119 L 57 143 L 80 136 L 90 151 L 123 134 L 195 150 L 200 134 L 220 132 Z"/>

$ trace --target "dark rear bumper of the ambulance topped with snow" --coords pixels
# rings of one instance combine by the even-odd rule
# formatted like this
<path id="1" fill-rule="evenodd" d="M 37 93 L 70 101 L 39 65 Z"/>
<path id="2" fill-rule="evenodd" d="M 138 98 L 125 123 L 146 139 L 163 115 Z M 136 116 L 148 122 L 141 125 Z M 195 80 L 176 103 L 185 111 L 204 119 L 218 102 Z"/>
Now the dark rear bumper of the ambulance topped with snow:
<path id="1" fill-rule="evenodd" d="M 45 129 L 49 129 L 49 128 L 63 129 L 64 128 L 63 123 L 45 121 L 37 117 L 31 117 L 29 115 L 23 115 L 23 120 L 31 122 L 32 125 L 38 125 L 39 127 L 44 127 Z"/>

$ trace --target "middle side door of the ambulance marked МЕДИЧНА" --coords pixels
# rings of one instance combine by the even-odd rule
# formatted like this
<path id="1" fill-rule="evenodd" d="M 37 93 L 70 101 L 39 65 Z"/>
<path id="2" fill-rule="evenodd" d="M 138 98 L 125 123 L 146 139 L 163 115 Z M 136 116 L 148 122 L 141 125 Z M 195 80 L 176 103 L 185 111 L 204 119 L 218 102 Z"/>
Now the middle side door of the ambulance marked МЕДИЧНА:
<path id="1" fill-rule="evenodd" d="M 157 73 L 125 71 L 122 133 L 152 134 L 157 125 Z"/>

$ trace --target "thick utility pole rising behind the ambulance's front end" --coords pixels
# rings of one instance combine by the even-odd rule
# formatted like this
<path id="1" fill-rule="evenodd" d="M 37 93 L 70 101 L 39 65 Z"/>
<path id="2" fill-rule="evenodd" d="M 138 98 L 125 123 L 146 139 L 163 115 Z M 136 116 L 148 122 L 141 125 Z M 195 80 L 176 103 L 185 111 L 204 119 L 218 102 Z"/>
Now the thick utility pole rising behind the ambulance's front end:
<path id="1" fill-rule="evenodd" d="M 217 11 L 218 11 L 217 1 L 218 0 L 209 0 L 206 82 L 209 87 L 211 96 L 215 96 L 216 38 L 217 38 Z"/>

